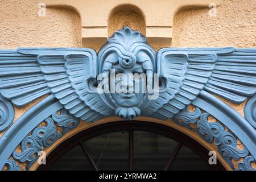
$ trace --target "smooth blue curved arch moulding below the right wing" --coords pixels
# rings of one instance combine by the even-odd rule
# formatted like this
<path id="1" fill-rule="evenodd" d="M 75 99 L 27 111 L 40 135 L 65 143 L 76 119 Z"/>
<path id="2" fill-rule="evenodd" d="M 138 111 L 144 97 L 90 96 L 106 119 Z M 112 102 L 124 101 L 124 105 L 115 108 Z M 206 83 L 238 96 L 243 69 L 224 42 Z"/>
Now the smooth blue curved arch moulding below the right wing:
<path id="1" fill-rule="evenodd" d="M 234 137 L 237 137 L 237 139 L 242 142 L 244 148 L 249 151 L 248 155 L 246 156 L 243 156 L 246 153 L 241 154 L 241 151 L 237 151 L 236 153 L 234 151 L 236 148 L 233 148 L 233 151 L 230 151 L 233 152 L 233 154 L 230 154 L 233 156 L 232 159 L 240 159 L 241 157 L 245 157 L 243 162 L 238 164 L 239 169 L 255 170 L 250 166 L 250 163 L 255 162 L 256 159 L 256 133 L 250 123 L 242 118 L 241 115 L 233 110 L 230 106 L 204 91 L 200 93 L 200 97 L 193 101 L 192 104 L 218 119 L 221 124 L 226 126 L 234 134 Z M 226 133 L 225 130 L 223 132 Z M 228 147 L 228 145 L 226 147 Z M 228 160 L 232 166 L 231 159 Z M 245 166 L 247 168 L 245 168 Z"/>

